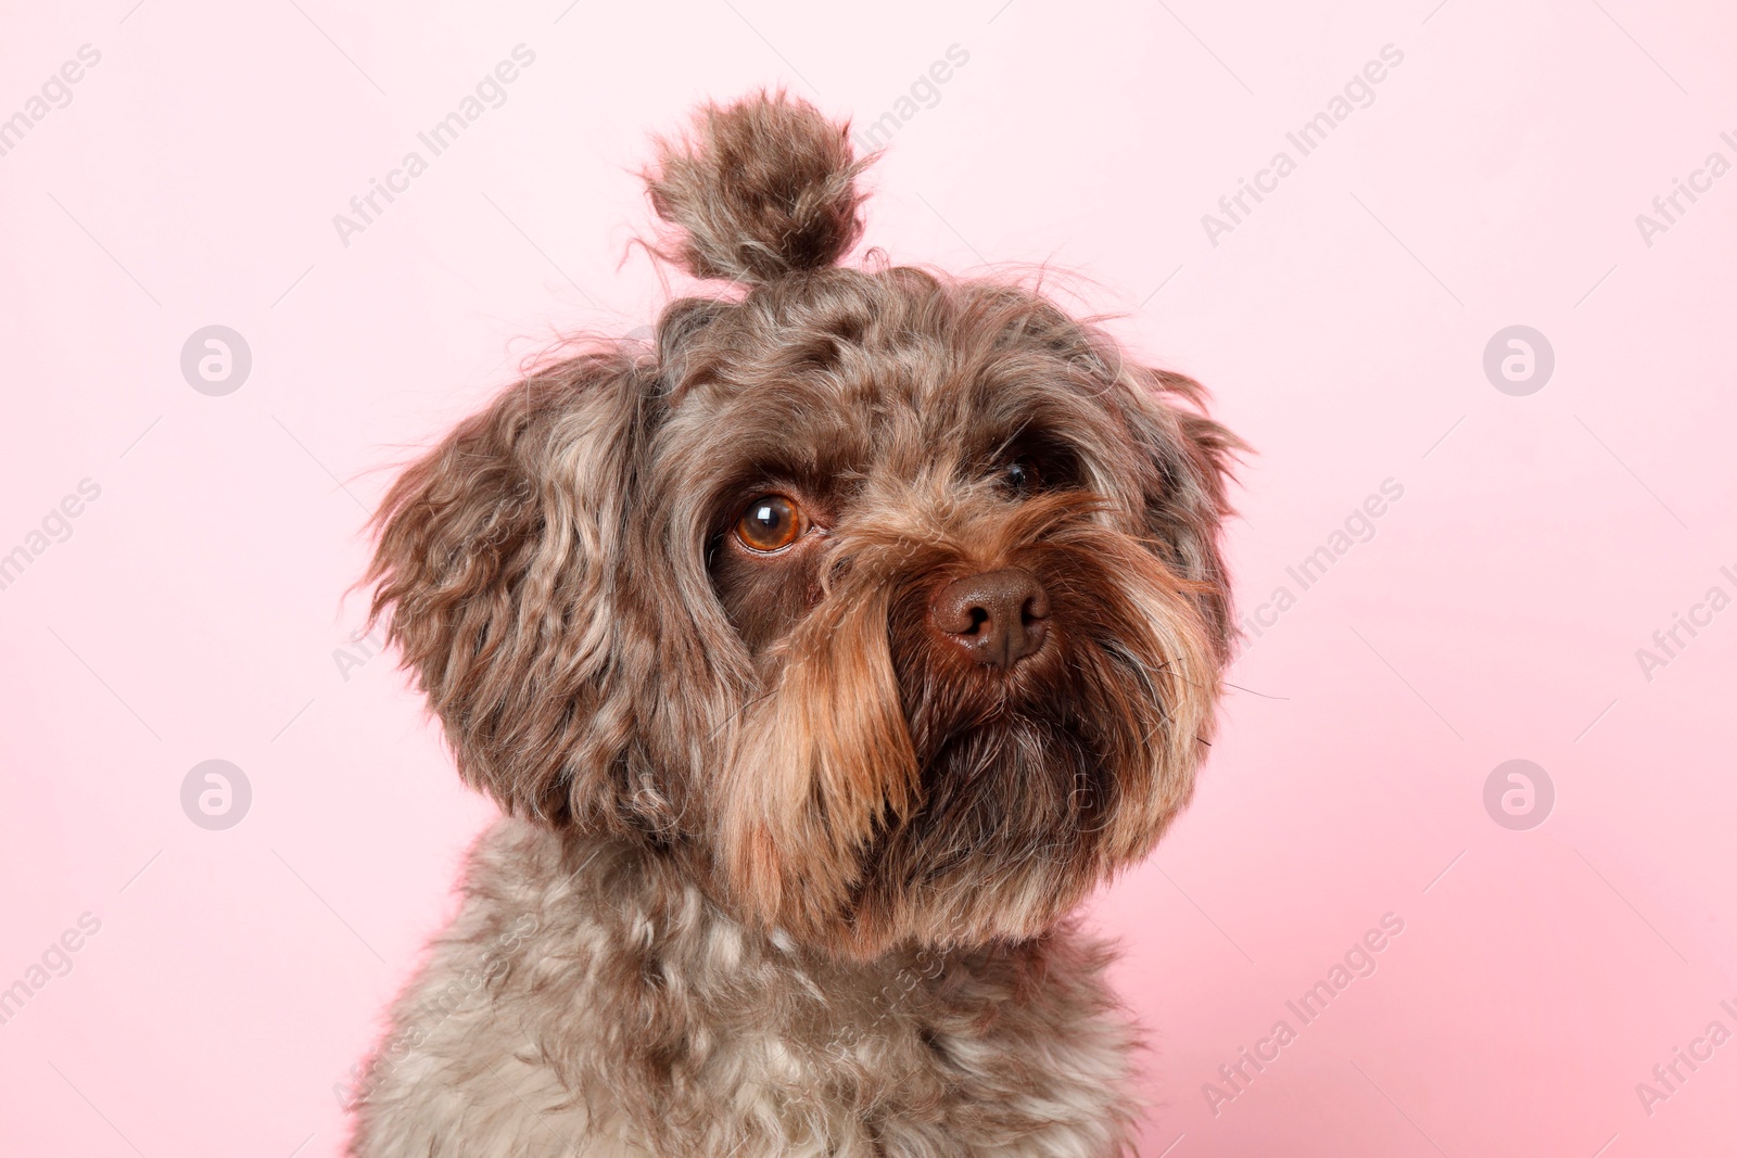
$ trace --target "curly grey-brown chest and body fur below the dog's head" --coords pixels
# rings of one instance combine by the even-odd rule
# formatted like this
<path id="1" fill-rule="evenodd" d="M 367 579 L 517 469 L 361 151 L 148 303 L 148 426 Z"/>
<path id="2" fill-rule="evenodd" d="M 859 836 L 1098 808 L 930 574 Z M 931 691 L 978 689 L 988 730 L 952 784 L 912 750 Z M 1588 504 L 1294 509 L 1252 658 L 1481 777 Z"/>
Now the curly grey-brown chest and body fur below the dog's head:
<path id="1" fill-rule="evenodd" d="M 832 962 L 644 852 L 502 821 L 363 1082 L 353 1153 L 1098 1156 L 1131 1031 L 1072 931 Z"/>

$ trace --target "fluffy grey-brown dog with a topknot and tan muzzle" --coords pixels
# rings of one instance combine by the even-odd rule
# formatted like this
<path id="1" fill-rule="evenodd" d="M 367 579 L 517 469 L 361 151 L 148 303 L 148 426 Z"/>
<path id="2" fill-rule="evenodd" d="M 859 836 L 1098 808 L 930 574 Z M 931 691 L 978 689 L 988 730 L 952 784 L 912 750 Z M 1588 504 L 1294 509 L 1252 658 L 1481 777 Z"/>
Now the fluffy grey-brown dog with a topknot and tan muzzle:
<path id="1" fill-rule="evenodd" d="M 504 818 L 354 1158 L 1129 1153 L 1073 915 L 1186 806 L 1238 439 L 1009 278 L 856 247 L 848 123 L 658 139 L 658 260 L 396 479 L 373 615 Z"/>

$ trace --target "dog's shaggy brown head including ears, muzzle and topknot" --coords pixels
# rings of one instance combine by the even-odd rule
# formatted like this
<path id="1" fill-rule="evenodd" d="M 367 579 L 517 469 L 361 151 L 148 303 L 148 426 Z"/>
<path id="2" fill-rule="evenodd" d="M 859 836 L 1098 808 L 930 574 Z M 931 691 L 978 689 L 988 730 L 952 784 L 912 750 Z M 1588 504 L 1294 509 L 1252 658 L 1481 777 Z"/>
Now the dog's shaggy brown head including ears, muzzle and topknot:
<path id="1" fill-rule="evenodd" d="M 782 95 L 664 142 L 660 253 L 742 288 L 464 422 L 373 578 L 467 781 L 867 955 L 1037 934 L 1188 802 L 1237 443 L 1032 290 L 837 266 L 860 167 Z"/>

